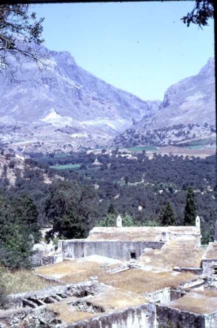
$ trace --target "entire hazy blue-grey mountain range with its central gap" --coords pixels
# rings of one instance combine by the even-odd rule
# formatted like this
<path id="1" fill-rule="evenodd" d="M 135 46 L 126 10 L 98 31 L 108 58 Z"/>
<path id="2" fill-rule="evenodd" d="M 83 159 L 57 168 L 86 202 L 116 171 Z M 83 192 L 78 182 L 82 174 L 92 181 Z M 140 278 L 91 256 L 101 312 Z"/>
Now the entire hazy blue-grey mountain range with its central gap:
<path id="1" fill-rule="evenodd" d="M 46 48 L 46 67 L 23 63 L 17 83 L 0 78 L 0 140 L 28 150 L 173 144 L 215 133 L 215 61 L 143 101 Z M 178 135 L 178 136 L 177 136 Z M 159 137 L 160 136 L 160 137 Z M 162 137 L 163 136 L 163 137 Z"/>

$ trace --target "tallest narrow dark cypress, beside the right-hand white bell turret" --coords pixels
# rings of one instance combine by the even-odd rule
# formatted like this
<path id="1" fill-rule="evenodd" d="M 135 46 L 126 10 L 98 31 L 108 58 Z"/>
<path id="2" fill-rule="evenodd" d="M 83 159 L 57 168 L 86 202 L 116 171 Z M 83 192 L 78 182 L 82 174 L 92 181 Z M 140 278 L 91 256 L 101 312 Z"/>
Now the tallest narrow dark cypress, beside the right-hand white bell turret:
<path id="1" fill-rule="evenodd" d="M 184 212 L 184 225 L 195 225 L 197 217 L 196 203 L 193 187 L 188 187 L 188 194 L 186 199 L 186 207 Z"/>

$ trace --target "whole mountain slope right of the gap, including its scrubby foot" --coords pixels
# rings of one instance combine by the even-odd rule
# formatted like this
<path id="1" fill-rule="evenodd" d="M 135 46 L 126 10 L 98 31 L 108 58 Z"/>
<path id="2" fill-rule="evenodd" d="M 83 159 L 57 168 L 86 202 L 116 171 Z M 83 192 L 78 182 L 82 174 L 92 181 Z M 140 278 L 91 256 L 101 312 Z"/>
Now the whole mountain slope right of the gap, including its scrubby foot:
<path id="1" fill-rule="evenodd" d="M 215 60 L 168 88 L 160 109 L 114 140 L 115 145 L 173 144 L 215 135 Z"/>

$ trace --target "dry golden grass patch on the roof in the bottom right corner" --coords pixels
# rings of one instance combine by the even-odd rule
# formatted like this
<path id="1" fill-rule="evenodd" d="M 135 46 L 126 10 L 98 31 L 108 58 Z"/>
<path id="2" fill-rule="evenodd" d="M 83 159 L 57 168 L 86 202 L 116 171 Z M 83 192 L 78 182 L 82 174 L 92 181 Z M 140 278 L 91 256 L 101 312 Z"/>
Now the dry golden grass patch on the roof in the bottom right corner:
<path id="1" fill-rule="evenodd" d="M 198 314 L 209 314 L 217 310 L 217 292 L 191 291 L 181 299 L 170 303 L 170 307 Z"/>

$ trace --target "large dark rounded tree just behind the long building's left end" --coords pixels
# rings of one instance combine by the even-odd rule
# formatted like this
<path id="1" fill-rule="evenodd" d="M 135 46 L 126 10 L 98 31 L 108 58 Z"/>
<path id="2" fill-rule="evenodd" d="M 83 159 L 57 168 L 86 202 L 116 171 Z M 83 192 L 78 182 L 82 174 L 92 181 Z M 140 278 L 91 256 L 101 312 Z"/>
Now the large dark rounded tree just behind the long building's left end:
<path id="1" fill-rule="evenodd" d="M 96 219 L 98 197 L 90 186 L 71 181 L 56 182 L 45 204 L 46 215 L 53 228 L 47 233 L 50 240 L 61 238 L 85 238 Z"/>

